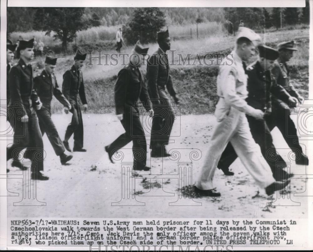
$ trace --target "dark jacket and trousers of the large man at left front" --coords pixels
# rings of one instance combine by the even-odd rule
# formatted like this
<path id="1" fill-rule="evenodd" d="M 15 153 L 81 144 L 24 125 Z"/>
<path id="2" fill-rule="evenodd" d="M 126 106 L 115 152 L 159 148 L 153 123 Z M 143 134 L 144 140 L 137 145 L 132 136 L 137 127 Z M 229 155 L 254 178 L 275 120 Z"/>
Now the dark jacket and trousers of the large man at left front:
<path id="1" fill-rule="evenodd" d="M 38 118 L 33 103 L 38 96 L 33 89 L 33 70 L 20 59 L 10 70 L 10 105 L 14 111 L 14 143 L 7 150 L 7 160 L 17 160 L 20 152 L 25 151 L 25 158 L 32 161 L 37 171 L 44 170 L 44 144 L 39 129 Z M 28 115 L 28 123 L 20 118 Z"/>

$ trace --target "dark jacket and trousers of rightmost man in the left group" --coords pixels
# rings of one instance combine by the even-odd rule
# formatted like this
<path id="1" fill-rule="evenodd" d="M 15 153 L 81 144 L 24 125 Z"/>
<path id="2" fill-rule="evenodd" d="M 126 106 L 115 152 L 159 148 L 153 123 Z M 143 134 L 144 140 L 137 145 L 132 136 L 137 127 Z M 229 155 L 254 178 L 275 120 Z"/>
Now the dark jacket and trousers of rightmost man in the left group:
<path id="1" fill-rule="evenodd" d="M 73 114 L 72 121 L 67 126 L 64 141 L 67 142 L 72 134 L 74 134 L 74 148 L 81 149 L 84 146 L 84 126 L 78 103 L 78 94 L 83 104 L 87 104 L 87 101 L 83 73 L 74 65 L 63 75 L 62 93 L 71 104 L 72 108 L 70 112 Z"/>

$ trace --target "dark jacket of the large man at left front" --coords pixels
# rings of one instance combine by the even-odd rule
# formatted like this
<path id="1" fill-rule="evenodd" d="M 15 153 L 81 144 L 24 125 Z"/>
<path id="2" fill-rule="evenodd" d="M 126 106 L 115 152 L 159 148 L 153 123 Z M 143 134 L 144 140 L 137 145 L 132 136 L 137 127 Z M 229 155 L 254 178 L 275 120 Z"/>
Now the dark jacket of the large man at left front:
<path id="1" fill-rule="evenodd" d="M 21 108 L 22 113 L 19 117 L 34 113 L 33 104 L 38 100 L 37 93 L 33 89 L 33 69 L 32 66 L 26 65 L 23 59 L 12 66 L 9 74 L 10 83 L 10 105 L 14 108 Z M 18 107 L 16 106 L 18 103 Z M 21 106 L 21 107 L 19 107 Z"/>

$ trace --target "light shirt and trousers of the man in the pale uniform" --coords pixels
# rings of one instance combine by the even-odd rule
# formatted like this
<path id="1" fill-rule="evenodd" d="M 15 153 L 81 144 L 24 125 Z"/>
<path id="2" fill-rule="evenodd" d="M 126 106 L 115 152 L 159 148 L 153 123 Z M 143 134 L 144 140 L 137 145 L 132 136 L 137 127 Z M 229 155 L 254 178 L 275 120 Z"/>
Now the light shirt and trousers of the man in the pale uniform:
<path id="1" fill-rule="evenodd" d="M 242 60 L 232 51 L 228 60 L 232 64 L 222 64 L 217 78 L 217 94 L 220 97 L 215 109 L 218 120 L 207 156 L 196 182 L 202 190 L 213 189 L 213 176 L 218 161 L 230 141 L 239 159 L 251 176 L 265 188 L 275 182 L 269 165 L 264 160 L 260 147 L 255 143 L 250 132 L 245 114 L 252 115 L 256 109 L 247 104 L 247 76 Z M 224 59 L 225 63 L 226 58 Z"/>

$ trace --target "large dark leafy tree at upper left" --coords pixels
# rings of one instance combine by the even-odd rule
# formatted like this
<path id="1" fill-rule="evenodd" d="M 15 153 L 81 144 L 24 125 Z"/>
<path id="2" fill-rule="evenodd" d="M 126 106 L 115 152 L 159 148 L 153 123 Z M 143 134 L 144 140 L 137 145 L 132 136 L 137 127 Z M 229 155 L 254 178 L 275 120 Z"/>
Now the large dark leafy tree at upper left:
<path id="1" fill-rule="evenodd" d="M 86 28 L 82 20 L 84 8 L 37 8 L 34 16 L 34 28 L 46 31 L 62 41 L 62 49 L 67 50 L 67 43 L 72 42 L 76 32 Z"/>

